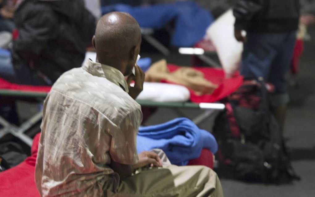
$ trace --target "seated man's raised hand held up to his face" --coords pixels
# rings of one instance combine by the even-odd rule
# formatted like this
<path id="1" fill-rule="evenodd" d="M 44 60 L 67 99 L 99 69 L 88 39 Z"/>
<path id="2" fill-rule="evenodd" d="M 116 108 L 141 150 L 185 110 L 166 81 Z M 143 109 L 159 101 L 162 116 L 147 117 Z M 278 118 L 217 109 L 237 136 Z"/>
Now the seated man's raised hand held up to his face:
<path id="1" fill-rule="evenodd" d="M 137 96 L 140 94 L 140 92 L 143 90 L 143 83 L 144 83 L 145 74 L 141 70 L 140 67 L 135 66 L 135 76 L 130 75 L 127 78 L 127 84 L 129 86 L 129 96 L 131 96 L 133 99 L 136 99 Z M 130 82 L 135 81 L 135 86 L 131 87 Z"/>

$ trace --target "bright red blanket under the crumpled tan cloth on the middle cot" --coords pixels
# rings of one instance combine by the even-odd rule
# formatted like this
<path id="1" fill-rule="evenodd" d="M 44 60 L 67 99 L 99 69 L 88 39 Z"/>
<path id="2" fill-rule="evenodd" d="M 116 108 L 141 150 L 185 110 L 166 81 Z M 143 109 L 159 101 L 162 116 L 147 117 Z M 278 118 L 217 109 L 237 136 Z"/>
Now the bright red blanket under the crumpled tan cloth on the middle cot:
<path id="1" fill-rule="evenodd" d="M 170 72 L 174 72 L 179 69 L 179 66 L 168 64 Z M 190 100 L 192 102 L 200 103 L 200 102 L 215 102 L 219 101 L 226 96 L 232 94 L 235 90 L 237 90 L 243 83 L 243 77 L 236 74 L 233 78 L 225 78 L 224 71 L 222 69 L 209 68 L 209 67 L 193 67 L 194 69 L 203 72 L 204 78 L 209 80 L 214 84 L 218 84 L 219 86 L 215 91 L 210 95 L 202 95 L 198 96 L 194 93 L 194 91 L 190 91 Z"/>

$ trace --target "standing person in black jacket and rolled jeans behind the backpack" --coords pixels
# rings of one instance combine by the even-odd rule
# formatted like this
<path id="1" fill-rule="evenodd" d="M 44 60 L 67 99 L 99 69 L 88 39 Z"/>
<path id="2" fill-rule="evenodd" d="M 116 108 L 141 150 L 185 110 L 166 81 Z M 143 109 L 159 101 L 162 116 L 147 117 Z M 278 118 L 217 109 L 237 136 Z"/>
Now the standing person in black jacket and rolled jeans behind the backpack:
<path id="1" fill-rule="evenodd" d="M 238 0 L 233 8 L 235 38 L 244 42 L 240 73 L 264 77 L 275 86 L 272 112 L 284 127 L 289 102 L 287 79 L 300 17 L 299 0 Z M 247 35 L 244 36 L 242 31 Z"/>

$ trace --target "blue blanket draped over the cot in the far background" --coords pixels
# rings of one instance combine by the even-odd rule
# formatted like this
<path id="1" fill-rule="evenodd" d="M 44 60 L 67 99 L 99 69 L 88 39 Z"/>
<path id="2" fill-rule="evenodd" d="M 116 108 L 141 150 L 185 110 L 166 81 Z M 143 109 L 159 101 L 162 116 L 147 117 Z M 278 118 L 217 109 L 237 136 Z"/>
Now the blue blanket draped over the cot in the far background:
<path id="1" fill-rule="evenodd" d="M 125 4 L 102 7 L 102 14 L 111 11 L 131 14 L 143 28 L 160 29 L 174 20 L 171 43 L 176 47 L 191 47 L 197 43 L 214 21 L 207 10 L 201 8 L 197 3 L 189 1 L 145 7 L 132 7 Z"/>

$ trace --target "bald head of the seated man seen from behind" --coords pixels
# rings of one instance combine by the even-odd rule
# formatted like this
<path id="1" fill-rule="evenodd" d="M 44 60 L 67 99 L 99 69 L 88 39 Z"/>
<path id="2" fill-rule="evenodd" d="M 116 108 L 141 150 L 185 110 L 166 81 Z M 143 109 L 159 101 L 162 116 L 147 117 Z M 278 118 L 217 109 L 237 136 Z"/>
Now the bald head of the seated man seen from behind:
<path id="1" fill-rule="evenodd" d="M 129 74 L 125 72 L 131 71 L 135 64 L 140 43 L 139 24 L 130 14 L 111 12 L 101 17 L 97 23 L 93 45 L 101 64 Z"/>

